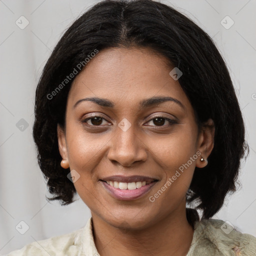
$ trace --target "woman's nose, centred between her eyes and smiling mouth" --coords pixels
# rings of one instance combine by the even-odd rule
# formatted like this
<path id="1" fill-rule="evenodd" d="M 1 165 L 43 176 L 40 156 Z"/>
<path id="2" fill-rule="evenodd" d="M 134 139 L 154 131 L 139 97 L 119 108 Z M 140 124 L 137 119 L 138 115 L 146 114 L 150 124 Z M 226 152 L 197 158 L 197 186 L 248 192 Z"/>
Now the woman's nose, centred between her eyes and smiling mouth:
<path id="1" fill-rule="evenodd" d="M 134 162 L 146 160 L 147 147 L 135 133 L 133 126 L 131 125 L 126 131 L 116 127 L 107 153 L 109 160 L 126 167 L 131 166 Z"/>

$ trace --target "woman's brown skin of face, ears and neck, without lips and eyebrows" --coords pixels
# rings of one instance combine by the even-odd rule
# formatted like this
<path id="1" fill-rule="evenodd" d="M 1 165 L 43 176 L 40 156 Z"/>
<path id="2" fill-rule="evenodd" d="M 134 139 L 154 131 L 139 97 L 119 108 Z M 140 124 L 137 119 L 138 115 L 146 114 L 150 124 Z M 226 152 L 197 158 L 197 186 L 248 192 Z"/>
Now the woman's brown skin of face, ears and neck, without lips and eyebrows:
<path id="1" fill-rule="evenodd" d="M 207 126 L 212 120 L 198 130 L 187 96 L 169 75 L 172 68 L 164 56 L 148 48 L 108 48 L 86 64 L 70 88 L 65 130 L 57 127 L 59 152 L 68 161 L 65 167 L 80 175 L 74 186 L 91 210 L 101 256 L 181 256 L 191 244 L 193 228 L 185 215 L 185 194 L 195 166 L 202 168 L 207 161 L 197 157 L 154 202 L 148 199 L 196 151 L 207 158 L 213 148 L 214 126 Z M 140 100 L 152 96 L 173 97 L 183 107 L 173 101 L 139 106 Z M 85 97 L 108 99 L 114 107 L 92 101 L 73 107 Z M 82 122 L 91 113 L 105 120 Z M 157 125 L 153 118 L 159 114 L 176 123 L 169 125 L 163 119 Z M 126 131 L 118 126 L 123 118 L 131 124 Z M 152 176 L 158 181 L 142 197 L 123 201 L 112 197 L 99 181 L 117 174 Z"/>

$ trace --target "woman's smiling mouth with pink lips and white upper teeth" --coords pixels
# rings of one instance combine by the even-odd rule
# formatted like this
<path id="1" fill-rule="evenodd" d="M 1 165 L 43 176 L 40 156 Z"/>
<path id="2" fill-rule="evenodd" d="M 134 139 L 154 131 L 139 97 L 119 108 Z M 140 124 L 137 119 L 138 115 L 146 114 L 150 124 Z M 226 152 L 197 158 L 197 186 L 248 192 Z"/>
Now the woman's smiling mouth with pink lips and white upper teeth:
<path id="1" fill-rule="evenodd" d="M 141 175 L 114 175 L 100 179 L 106 191 L 119 200 L 137 199 L 148 192 L 157 181 L 157 178 Z"/>

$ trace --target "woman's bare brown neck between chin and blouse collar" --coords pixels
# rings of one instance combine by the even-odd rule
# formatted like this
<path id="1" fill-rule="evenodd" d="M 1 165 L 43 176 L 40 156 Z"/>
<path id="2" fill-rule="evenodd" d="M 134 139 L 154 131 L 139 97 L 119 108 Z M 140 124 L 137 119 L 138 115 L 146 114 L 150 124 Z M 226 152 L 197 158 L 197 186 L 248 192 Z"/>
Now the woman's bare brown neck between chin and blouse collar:
<path id="1" fill-rule="evenodd" d="M 169 215 L 143 229 L 120 229 L 92 214 L 94 242 L 100 256 L 175 255 L 185 256 L 193 228 L 185 208 L 182 214 Z"/>

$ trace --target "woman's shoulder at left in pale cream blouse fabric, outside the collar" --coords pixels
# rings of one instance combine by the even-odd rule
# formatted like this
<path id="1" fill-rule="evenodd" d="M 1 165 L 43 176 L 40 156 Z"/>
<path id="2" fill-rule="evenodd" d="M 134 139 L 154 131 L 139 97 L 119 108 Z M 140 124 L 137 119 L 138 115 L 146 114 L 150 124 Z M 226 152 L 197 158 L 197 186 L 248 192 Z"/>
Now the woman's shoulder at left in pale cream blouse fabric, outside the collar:
<path id="1" fill-rule="evenodd" d="M 83 229 L 84 227 L 68 234 L 34 241 L 21 249 L 11 251 L 6 256 L 78 255 L 81 247 L 80 239 Z"/>

